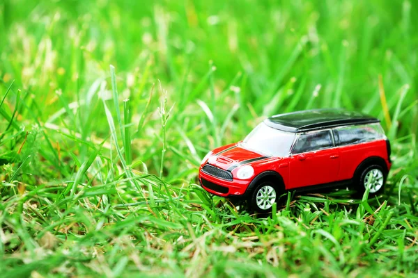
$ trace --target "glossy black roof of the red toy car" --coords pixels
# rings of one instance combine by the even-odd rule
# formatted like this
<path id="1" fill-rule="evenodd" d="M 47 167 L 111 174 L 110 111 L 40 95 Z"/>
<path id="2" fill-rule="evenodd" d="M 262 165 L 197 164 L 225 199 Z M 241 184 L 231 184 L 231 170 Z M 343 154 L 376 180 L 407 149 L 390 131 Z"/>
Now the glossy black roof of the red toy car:
<path id="1" fill-rule="evenodd" d="M 343 109 L 316 109 L 274 115 L 265 124 L 282 131 L 302 132 L 352 124 L 380 122 L 376 117 Z"/>

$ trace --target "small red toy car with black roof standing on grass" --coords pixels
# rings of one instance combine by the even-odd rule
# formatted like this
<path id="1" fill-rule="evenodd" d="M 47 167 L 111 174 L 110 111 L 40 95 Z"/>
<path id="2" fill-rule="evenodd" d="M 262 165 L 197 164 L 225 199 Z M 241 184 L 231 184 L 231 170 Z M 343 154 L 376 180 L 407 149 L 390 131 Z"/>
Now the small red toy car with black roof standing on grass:
<path id="1" fill-rule="evenodd" d="M 209 152 L 201 186 L 242 197 L 255 211 L 271 211 L 286 190 L 355 188 L 381 193 L 392 165 L 380 121 L 362 113 L 319 109 L 274 115 L 242 141 Z"/>

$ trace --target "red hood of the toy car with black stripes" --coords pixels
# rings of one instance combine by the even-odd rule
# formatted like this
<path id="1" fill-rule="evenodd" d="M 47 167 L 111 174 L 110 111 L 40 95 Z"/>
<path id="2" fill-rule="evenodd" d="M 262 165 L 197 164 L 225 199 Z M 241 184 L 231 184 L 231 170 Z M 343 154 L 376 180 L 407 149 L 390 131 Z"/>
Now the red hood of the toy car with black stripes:
<path id="1" fill-rule="evenodd" d="M 208 163 L 223 170 L 232 171 L 241 165 L 254 165 L 254 163 L 271 159 L 271 156 L 264 156 L 263 154 L 258 154 L 250 149 L 245 149 L 239 144 L 235 144 L 226 147 L 219 152 L 215 152 L 215 154 L 208 159 Z"/>

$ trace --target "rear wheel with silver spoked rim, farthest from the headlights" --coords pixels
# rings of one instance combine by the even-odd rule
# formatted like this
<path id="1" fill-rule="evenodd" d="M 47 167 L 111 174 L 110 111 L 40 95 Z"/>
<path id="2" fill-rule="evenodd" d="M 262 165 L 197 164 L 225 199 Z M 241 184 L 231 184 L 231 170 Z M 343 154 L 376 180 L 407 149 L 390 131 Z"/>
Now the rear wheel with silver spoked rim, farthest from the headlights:
<path id="1" fill-rule="evenodd" d="M 370 188 L 370 195 L 377 195 L 383 192 L 386 183 L 387 172 L 380 165 L 370 165 L 360 174 L 358 180 L 359 193 L 364 194 L 366 188 Z"/>

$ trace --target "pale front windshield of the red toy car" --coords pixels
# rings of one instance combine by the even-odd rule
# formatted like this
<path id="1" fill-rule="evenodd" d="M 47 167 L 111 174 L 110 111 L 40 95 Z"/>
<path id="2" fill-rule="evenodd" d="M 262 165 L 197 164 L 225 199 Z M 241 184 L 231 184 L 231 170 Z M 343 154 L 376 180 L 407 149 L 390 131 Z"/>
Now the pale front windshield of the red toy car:
<path id="1" fill-rule="evenodd" d="M 295 133 L 279 131 L 262 122 L 242 141 L 242 147 L 269 156 L 288 156 L 294 139 Z"/>

